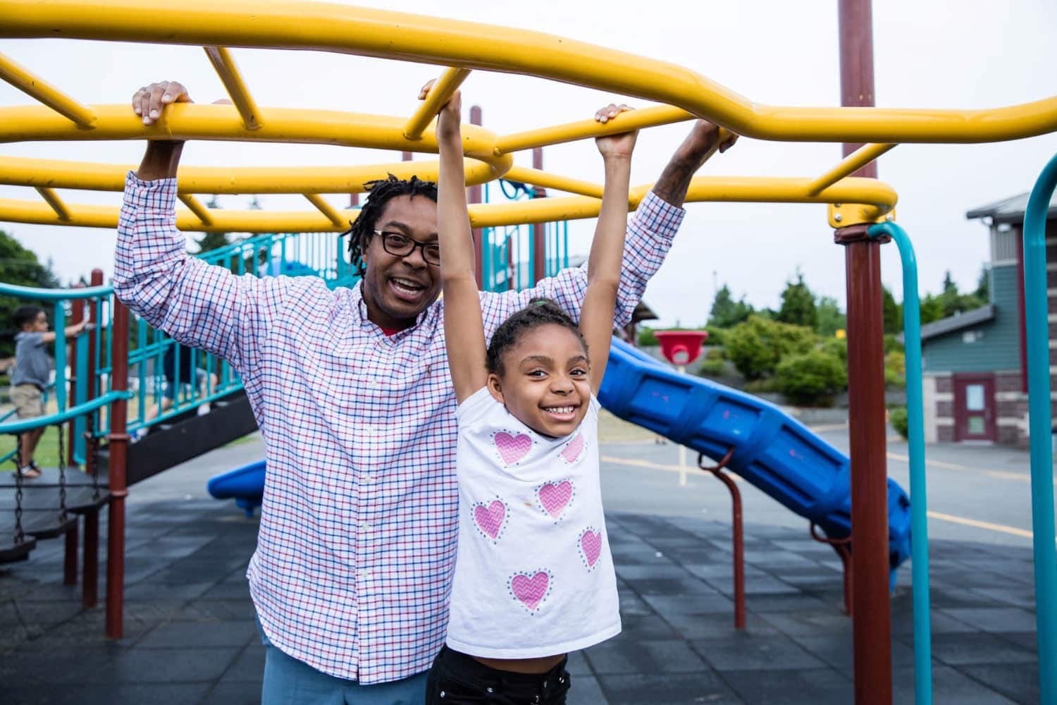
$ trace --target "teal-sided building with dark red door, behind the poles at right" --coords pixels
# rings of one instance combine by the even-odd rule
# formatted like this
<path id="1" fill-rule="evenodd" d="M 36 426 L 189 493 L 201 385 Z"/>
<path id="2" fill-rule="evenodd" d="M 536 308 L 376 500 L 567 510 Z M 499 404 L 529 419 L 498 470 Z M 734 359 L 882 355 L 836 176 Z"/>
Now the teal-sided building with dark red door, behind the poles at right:
<path id="1" fill-rule="evenodd" d="M 990 300 L 922 327 L 925 440 L 1027 444 L 1023 221 L 1027 193 L 975 208 L 990 238 Z M 1057 373 L 1057 196 L 1046 220 L 1051 385 Z M 1057 405 L 1051 402 L 1052 409 Z"/>

